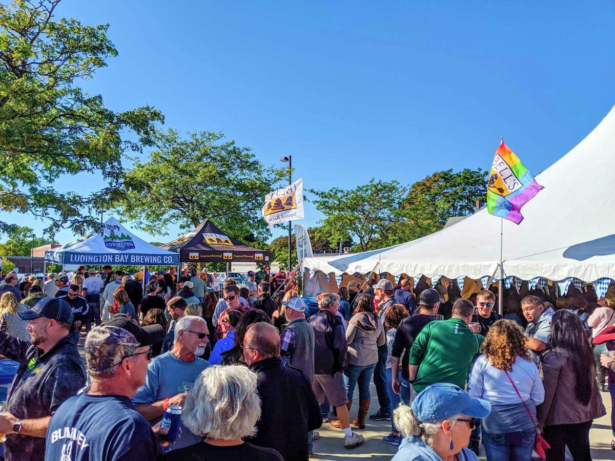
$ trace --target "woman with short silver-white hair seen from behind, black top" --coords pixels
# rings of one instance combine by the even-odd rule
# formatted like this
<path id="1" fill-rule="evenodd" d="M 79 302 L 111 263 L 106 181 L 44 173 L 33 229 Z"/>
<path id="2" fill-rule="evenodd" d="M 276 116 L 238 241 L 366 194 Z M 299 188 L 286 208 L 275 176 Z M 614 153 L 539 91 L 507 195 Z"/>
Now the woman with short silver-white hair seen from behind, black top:
<path id="1" fill-rule="evenodd" d="M 210 366 L 194 382 L 181 415 L 181 422 L 203 441 L 172 450 L 162 459 L 283 461 L 275 449 L 244 442 L 256 434 L 260 417 L 256 373 L 242 365 Z"/>

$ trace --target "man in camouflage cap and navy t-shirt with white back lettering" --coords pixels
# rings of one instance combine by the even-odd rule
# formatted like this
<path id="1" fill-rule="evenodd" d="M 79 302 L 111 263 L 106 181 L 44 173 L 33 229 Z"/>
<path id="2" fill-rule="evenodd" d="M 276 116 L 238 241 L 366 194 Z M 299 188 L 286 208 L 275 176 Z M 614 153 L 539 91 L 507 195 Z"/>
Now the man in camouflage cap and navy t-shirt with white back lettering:
<path id="1" fill-rule="evenodd" d="M 149 346 L 161 341 L 160 325 L 140 328 L 118 314 L 85 339 L 92 384 L 55 412 L 47 429 L 49 461 L 156 460 L 160 445 L 130 399 L 143 385 Z"/>

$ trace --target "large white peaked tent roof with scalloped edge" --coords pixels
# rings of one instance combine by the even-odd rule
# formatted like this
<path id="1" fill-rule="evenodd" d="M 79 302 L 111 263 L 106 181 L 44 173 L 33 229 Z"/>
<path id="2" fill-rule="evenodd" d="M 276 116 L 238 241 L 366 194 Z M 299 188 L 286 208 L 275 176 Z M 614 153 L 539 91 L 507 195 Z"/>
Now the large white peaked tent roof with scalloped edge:
<path id="1" fill-rule="evenodd" d="M 517 154 L 523 160 L 523 152 Z M 506 275 L 523 280 L 576 277 L 585 282 L 615 278 L 611 171 L 615 171 L 615 108 L 581 143 L 536 176 L 545 189 L 523 207 L 523 222 L 517 226 L 504 219 Z M 377 267 L 375 272 L 393 275 L 478 279 L 493 274 L 499 264 L 500 221 L 483 209 L 412 242 L 346 256 L 306 258 L 304 266 L 325 274 L 366 274 Z"/>

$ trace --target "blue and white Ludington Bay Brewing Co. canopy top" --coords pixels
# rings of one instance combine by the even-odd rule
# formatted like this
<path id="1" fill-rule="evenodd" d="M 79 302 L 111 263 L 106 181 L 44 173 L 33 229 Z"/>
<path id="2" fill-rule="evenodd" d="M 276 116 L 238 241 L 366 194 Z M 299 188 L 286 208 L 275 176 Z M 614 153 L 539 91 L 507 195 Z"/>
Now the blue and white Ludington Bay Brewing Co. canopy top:
<path id="1" fill-rule="evenodd" d="M 177 253 L 162 250 L 141 240 L 113 217 L 105 221 L 103 234 L 92 232 L 66 245 L 47 250 L 45 261 L 68 265 L 178 266 L 180 264 Z"/>

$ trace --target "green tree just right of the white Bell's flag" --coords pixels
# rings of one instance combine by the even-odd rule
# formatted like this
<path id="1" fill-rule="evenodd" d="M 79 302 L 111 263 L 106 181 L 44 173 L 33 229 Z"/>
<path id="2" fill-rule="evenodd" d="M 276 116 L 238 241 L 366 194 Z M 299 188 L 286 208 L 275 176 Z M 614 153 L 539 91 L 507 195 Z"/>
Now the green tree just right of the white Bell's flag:
<path id="1" fill-rule="evenodd" d="M 400 210 L 407 188 L 397 181 L 372 178 L 368 184 L 354 189 L 332 187 L 328 191 L 308 189 L 316 199 L 317 210 L 325 215 L 320 232 L 328 235 L 336 248 L 339 239 L 358 240 L 355 251 L 378 248 L 389 238 L 394 224 L 400 219 Z"/>

